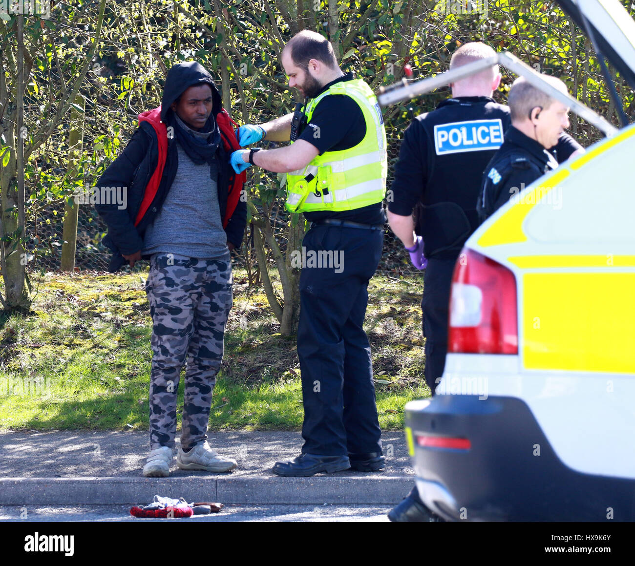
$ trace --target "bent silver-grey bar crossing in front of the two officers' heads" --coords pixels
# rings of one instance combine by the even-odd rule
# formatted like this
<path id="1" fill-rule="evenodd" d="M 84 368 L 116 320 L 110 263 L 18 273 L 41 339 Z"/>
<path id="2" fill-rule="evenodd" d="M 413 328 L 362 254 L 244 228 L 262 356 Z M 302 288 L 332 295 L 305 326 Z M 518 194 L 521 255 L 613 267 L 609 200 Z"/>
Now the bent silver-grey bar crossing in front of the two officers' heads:
<path id="1" fill-rule="evenodd" d="M 559 91 L 558 88 L 545 81 L 540 73 L 531 69 L 529 65 L 523 63 L 518 57 L 509 53 L 509 51 L 498 53 L 495 57 L 489 57 L 481 61 L 462 65 L 461 67 L 458 67 L 458 69 L 451 69 L 434 77 L 422 79 L 421 81 L 413 82 L 411 84 L 402 86 L 401 83 L 398 83 L 398 85 L 395 85 L 394 88 L 388 87 L 380 89 L 380 94 L 377 98 L 380 105 L 387 106 L 401 102 L 402 100 L 415 98 L 415 96 L 420 96 L 441 86 L 446 86 L 446 84 L 450 84 L 451 82 L 460 81 L 460 79 L 472 76 L 481 72 L 481 70 L 485 70 L 488 67 L 497 64 L 511 70 L 518 76 L 525 77 L 530 84 L 570 107 L 575 114 L 580 116 L 586 122 L 589 122 L 589 124 L 595 128 L 598 128 L 599 131 L 601 131 L 607 138 L 610 138 L 617 133 L 618 129 L 607 122 L 601 115 L 585 106 L 582 102 L 578 102 L 578 100 L 573 98 L 573 96 Z"/>

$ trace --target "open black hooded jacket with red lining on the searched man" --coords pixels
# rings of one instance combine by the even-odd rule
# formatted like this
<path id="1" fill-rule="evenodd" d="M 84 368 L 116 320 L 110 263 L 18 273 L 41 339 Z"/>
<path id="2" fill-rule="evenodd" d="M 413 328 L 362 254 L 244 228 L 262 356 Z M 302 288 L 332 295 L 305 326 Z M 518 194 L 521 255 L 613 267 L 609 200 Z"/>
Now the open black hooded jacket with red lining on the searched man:
<path id="1" fill-rule="evenodd" d="M 212 114 L 215 115 L 223 142 L 223 147 L 218 148 L 222 164 L 218 171 L 220 216 L 227 240 L 236 247 L 243 240 L 247 207 L 245 199 L 241 199 L 241 192 L 246 174 L 234 173 L 229 164 L 231 152 L 240 149 L 234 134 L 236 123 L 222 108 L 218 89 L 201 65 L 180 63 L 178 67 L 176 77 L 172 72 L 168 75 L 161 106 L 139 114 L 139 127 L 130 142 L 96 184 L 97 188 L 127 187 L 127 206 L 124 209 L 119 209 L 116 203 L 95 204 L 95 209 L 108 226 L 108 234 L 102 242 L 114 253 L 110 260 L 110 272 L 128 263 L 121 254 L 130 255 L 143 249 L 145 230 L 161 210 L 177 174 L 177 140 L 167 135 L 166 115 L 171 112 L 171 103 L 185 89 L 200 82 L 207 82 L 211 86 L 214 103 Z"/>

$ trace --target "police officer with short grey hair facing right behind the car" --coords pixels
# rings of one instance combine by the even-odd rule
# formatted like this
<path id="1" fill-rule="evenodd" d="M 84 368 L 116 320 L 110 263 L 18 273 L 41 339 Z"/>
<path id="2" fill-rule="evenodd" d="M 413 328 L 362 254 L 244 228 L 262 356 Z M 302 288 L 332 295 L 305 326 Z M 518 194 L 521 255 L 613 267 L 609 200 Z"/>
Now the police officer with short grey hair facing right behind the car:
<path id="1" fill-rule="evenodd" d="M 567 92 L 565 84 L 556 77 L 545 75 L 544 78 L 564 93 Z M 507 105 L 511 110 L 512 125 L 505 132 L 505 142 L 483 174 L 483 188 L 478 201 L 481 221 L 485 221 L 538 177 L 556 169 L 558 161 L 564 161 L 556 159 L 548 148 L 556 146 L 559 148 L 558 157 L 563 157 L 564 144 L 559 140 L 569 126 L 568 107 L 523 77 L 512 84 Z M 575 149 L 572 153 L 584 152 L 573 144 L 577 145 L 575 142 L 568 143 L 564 150 L 568 147 Z"/>

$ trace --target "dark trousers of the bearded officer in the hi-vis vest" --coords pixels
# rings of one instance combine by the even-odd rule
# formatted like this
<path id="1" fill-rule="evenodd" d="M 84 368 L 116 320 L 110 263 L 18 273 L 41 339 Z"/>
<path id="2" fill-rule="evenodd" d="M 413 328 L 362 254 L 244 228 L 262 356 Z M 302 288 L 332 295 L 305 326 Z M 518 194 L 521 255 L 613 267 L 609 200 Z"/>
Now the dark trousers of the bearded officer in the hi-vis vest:
<path id="1" fill-rule="evenodd" d="M 382 452 L 370 344 L 363 324 L 368 281 L 382 255 L 382 230 L 313 226 L 302 240 L 298 357 L 302 372 L 302 452 L 321 456 Z M 340 265 L 309 267 L 329 251 Z M 337 255 L 336 255 L 337 254 Z M 324 263 L 324 262 L 322 262 Z"/>

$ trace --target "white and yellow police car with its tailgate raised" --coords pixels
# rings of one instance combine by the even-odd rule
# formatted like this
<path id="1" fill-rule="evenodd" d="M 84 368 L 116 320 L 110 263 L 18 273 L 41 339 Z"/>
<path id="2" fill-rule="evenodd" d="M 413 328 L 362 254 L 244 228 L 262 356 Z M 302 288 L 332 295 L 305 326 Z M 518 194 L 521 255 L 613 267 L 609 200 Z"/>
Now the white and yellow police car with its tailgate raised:
<path id="1" fill-rule="evenodd" d="M 635 85 L 617 0 L 561 4 Z M 635 520 L 634 154 L 632 125 L 467 240 L 437 395 L 406 405 L 419 494 L 446 520 Z"/>

